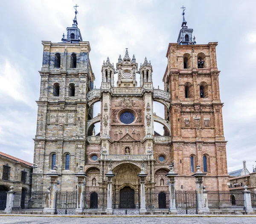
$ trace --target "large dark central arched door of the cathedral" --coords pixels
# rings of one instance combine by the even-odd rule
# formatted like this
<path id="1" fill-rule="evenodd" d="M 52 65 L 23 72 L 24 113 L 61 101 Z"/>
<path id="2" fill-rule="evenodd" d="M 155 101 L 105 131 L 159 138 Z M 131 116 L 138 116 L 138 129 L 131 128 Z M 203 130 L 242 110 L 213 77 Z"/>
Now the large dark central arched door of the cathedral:
<path id="1" fill-rule="evenodd" d="M 135 208 L 134 189 L 124 187 L 120 190 L 119 195 L 120 208 Z"/>

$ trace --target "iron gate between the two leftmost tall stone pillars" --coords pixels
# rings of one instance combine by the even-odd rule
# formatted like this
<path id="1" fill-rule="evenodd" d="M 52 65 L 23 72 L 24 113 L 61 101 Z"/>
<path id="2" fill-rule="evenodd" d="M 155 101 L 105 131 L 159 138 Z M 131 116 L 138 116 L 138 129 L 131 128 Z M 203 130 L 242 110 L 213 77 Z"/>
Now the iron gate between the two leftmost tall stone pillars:
<path id="1" fill-rule="evenodd" d="M 77 204 L 77 191 L 60 190 L 56 193 L 56 213 L 75 214 Z"/>

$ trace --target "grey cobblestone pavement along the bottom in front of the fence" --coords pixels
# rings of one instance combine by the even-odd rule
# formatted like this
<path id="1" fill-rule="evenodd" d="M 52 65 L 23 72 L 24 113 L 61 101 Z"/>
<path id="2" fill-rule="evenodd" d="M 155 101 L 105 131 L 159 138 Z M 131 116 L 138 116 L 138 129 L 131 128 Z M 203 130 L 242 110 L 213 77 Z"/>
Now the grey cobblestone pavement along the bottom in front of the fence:
<path id="1" fill-rule="evenodd" d="M 256 224 L 256 217 L 39 217 L 0 216 L 0 224 Z"/>

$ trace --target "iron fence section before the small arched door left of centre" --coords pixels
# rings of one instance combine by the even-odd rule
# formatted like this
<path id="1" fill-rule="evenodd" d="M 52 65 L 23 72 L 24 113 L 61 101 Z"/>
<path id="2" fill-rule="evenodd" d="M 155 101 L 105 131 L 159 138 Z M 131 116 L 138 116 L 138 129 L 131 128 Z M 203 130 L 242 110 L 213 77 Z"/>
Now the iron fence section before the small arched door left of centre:
<path id="1" fill-rule="evenodd" d="M 105 211 L 107 208 L 107 192 L 84 191 L 83 209 L 93 211 Z"/>

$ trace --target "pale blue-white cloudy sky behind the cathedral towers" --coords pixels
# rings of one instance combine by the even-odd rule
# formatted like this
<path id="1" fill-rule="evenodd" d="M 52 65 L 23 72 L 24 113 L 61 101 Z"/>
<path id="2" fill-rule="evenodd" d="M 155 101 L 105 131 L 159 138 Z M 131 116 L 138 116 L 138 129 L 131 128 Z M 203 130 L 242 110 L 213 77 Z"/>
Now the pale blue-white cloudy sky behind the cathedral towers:
<path id="1" fill-rule="evenodd" d="M 177 41 L 186 6 L 187 26 L 198 44 L 218 42 L 221 100 L 228 171 L 246 160 L 256 165 L 256 1 L 246 0 L 8 0 L 0 8 L 0 151 L 33 161 L 43 46 L 60 42 L 72 25 L 74 5 L 90 62 L 100 86 L 101 65 L 117 62 L 125 48 L 153 66 L 154 87 L 163 89 L 169 43 Z M 99 107 L 99 106 L 98 106 Z M 161 107 L 161 106 L 160 106 Z M 162 116 L 159 105 L 154 112 Z M 98 112 L 96 112 L 98 113 Z M 157 131 L 161 129 L 157 126 Z"/>

